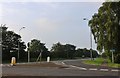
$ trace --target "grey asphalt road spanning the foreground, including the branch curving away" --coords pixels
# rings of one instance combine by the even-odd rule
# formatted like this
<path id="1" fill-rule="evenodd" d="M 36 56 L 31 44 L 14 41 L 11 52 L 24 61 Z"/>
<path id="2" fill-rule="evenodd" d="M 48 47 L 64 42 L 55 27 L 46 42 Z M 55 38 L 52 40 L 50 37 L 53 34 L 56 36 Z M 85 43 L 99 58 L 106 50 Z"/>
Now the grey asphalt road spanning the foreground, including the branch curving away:
<path id="1" fill-rule="evenodd" d="M 118 76 L 117 69 L 84 65 L 80 60 L 54 61 L 65 67 L 3 66 L 3 76 Z M 114 71 L 112 71 L 114 70 Z"/>

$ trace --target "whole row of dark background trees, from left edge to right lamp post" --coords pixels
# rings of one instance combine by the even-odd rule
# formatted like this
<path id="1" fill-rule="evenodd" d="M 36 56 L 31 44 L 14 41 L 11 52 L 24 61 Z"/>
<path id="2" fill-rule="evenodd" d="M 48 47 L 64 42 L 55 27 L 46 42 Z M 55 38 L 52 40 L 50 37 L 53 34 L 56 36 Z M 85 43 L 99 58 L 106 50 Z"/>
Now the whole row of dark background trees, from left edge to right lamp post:
<path id="1" fill-rule="evenodd" d="M 16 34 L 13 31 L 9 31 L 8 27 L 1 25 L 2 29 L 2 61 L 10 61 L 12 57 L 18 58 L 19 50 L 19 59 L 20 61 L 27 61 L 28 52 L 30 53 L 30 61 L 36 61 L 38 56 L 41 53 L 41 58 L 46 59 L 50 56 L 52 59 L 73 59 L 76 57 L 85 58 L 90 57 L 90 50 L 84 48 L 77 48 L 72 44 L 61 44 L 60 42 L 53 44 L 51 50 L 45 46 L 45 43 L 42 43 L 38 39 L 32 39 L 30 42 L 25 44 L 21 40 L 21 36 Z M 18 48 L 19 43 L 19 48 Z M 27 51 L 25 49 L 27 48 Z M 95 50 L 92 50 L 93 56 L 98 57 L 98 53 Z M 18 59 L 17 59 L 18 60 Z"/>

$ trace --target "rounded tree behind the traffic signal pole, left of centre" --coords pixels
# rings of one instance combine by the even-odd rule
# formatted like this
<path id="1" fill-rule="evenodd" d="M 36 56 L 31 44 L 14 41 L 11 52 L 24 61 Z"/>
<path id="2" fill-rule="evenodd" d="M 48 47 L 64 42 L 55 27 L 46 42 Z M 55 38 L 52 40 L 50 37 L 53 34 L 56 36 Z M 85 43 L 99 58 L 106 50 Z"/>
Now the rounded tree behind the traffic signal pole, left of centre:
<path id="1" fill-rule="evenodd" d="M 45 44 L 41 43 L 40 40 L 37 39 L 33 39 L 28 43 L 28 51 L 30 52 L 31 58 L 38 58 L 40 53 L 43 58 L 49 56 L 49 52 Z"/>

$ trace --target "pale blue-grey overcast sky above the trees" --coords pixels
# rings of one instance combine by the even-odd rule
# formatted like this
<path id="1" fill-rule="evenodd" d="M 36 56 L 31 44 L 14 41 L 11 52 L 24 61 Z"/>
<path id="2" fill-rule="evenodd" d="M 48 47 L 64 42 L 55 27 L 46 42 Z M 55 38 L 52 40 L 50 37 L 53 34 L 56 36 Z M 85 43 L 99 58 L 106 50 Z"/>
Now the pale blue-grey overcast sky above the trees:
<path id="1" fill-rule="evenodd" d="M 26 43 L 38 39 L 50 49 L 53 44 L 73 44 L 90 48 L 88 21 L 102 2 L 4 2 L 0 17 L 2 24 L 16 33 L 20 31 Z M 96 45 L 93 40 L 93 48 Z"/>

